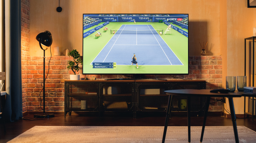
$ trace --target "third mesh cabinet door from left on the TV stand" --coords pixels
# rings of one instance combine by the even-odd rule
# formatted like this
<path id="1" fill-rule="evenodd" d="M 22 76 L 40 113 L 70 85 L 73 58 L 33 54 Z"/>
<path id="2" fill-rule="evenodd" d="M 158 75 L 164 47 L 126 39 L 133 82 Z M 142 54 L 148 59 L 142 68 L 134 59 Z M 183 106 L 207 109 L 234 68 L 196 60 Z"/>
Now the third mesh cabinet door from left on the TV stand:
<path id="1" fill-rule="evenodd" d="M 169 83 L 136 83 L 136 111 L 166 112 Z"/>

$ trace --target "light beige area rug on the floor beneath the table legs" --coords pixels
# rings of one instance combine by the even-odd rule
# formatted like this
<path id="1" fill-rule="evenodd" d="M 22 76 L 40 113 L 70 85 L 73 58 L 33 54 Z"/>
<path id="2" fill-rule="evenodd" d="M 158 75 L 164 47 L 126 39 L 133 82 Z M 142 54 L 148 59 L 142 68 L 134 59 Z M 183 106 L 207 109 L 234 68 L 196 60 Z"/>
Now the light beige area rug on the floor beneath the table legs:
<path id="1" fill-rule="evenodd" d="M 8 143 L 160 143 L 163 126 L 34 126 Z M 255 143 L 256 132 L 237 126 L 240 143 Z M 201 126 L 191 127 L 191 143 L 200 142 Z M 186 143 L 186 126 L 169 126 L 166 143 Z M 232 126 L 206 126 L 203 143 L 234 143 Z"/>

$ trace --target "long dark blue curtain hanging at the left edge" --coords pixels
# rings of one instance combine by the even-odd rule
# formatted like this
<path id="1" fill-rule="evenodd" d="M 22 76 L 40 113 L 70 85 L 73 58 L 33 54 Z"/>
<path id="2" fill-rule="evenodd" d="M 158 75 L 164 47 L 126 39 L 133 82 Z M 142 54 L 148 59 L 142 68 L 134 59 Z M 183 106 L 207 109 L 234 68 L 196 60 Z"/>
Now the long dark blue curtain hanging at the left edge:
<path id="1" fill-rule="evenodd" d="M 5 0 L 5 55 L 7 121 L 22 117 L 21 0 Z"/>

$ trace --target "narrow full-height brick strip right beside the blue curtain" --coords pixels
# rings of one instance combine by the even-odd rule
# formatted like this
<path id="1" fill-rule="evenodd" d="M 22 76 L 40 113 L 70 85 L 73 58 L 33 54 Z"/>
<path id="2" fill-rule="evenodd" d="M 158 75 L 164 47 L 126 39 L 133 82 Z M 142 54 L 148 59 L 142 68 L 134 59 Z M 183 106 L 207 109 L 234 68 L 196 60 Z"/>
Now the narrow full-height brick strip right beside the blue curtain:
<path id="1" fill-rule="evenodd" d="M 27 111 L 27 60 L 29 57 L 29 0 L 21 1 L 21 68 L 22 68 L 22 110 Z"/>

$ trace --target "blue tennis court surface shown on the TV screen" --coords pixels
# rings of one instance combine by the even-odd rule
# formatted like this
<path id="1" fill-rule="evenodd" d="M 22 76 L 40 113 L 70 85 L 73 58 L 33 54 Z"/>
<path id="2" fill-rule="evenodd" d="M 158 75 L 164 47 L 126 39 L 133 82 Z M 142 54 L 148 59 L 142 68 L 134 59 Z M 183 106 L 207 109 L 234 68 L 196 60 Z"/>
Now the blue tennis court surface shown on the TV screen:
<path id="1" fill-rule="evenodd" d="M 122 25 L 92 63 L 131 65 L 133 53 L 138 65 L 183 65 L 152 25 Z"/>

